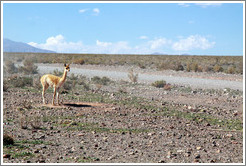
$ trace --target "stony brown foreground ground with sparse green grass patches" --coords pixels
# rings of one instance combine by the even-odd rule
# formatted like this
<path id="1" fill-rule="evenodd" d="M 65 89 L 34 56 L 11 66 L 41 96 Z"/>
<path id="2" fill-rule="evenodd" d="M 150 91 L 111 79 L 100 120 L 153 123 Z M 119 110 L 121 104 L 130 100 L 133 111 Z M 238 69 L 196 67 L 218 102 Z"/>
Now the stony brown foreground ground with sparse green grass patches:
<path id="1" fill-rule="evenodd" d="M 119 81 L 61 98 L 51 106 L 41 89 L 3 93 L 4 132 L 15 140 L 4 163 L 243 162 L 242 91 Z"/>

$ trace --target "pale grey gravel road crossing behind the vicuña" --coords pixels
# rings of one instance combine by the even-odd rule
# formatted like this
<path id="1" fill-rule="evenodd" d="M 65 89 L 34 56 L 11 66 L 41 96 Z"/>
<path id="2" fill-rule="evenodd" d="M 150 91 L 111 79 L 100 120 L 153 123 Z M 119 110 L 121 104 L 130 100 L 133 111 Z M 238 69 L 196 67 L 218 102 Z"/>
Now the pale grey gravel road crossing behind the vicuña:
<path id="1" fill-rule="evenodd" d="M 61 69 L 61 64 L 37 64 L 41 74 Z M 71 73 L 85 75 L 87 77 L 109 77 L 114 80 L 128 80 L 129 66 L 95 66 L 95 65 L 72 65 Z M 139 82 L 151 83 L 157 80 L 165 80 L 171 84 L 186 85 L 194 88 L 243 90 L 243 76 L 225 73 L 199 73 L 199 72 L 174 72 L 155 71 L 153 69 L 134 70 L 139 74 Z"/>

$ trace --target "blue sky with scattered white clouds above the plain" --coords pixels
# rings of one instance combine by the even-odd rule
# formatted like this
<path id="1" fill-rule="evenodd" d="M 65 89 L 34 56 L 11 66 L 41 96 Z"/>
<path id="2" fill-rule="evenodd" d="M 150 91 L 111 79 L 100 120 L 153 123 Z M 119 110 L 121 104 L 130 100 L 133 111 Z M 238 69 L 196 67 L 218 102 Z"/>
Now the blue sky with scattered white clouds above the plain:
<path id="1" fill-rule="evenodd" d="M 243 4 L 4 3 L 3 37 L 64 53 L 243 55 Z"/>

